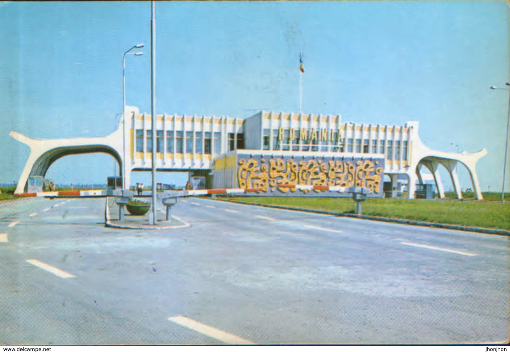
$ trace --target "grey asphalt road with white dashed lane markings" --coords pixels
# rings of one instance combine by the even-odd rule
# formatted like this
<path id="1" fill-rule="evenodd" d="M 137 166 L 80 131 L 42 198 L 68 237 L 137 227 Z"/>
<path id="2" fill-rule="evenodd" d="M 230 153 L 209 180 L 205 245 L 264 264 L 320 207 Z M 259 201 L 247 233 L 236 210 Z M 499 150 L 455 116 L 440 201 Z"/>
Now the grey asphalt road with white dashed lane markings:
<path id="1" fill-rule="evenodd" d="M 188 198 L 190 228 L 104 198 L 0 204 L 0 344 L 508 340 L 508 238 Z"/>

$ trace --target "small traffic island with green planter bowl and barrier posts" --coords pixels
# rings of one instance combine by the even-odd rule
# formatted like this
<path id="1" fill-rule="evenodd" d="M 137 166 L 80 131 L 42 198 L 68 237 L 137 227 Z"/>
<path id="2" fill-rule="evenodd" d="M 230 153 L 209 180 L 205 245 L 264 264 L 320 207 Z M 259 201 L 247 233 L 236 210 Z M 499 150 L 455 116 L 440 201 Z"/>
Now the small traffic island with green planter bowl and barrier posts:
<path id="1" fill-rule="evenodd" d="M 165 230 L 188 228 L 190 224 L 175 215 L 167 219 L 167 211 L 158 209 L 157 224 L 149 225 L 149 213 L 144 215 L 125 214 L 120 211 L 122 205 L 117 204 L 115 197 L 106 197 L 105 226 L 116 229 L 131 230 Z"/>

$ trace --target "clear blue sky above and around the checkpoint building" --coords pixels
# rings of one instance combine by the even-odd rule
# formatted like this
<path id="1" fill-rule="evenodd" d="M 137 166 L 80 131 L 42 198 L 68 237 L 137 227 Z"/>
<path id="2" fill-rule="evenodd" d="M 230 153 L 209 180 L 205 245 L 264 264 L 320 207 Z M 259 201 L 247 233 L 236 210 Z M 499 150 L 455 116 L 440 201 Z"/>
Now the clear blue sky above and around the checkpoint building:
<path id="1" fill-rule="evenodd" d="M 156 111 L 298 112 L 301 53 L 303 113 L 420 121 L 430 148 L 486 148 L 480 186 L 500 191 L 509 95 L 489 87 L 510 80 L 509 13 L 506 1 L 156 2 Z M 138 43 L 144 55 L 126 58 L 126 104 L 150 113 L 150 16 L 150 2 L 0 3 L 0 183 L 18 180 L 30 153 L 12 130 L 41 139 L 114 131 L 122 54 Z M 106 183 L 113 172 L 109 155 L 67 156 L 46 178 Z M 185 179 L 158 173 L 158 182 Z"/>

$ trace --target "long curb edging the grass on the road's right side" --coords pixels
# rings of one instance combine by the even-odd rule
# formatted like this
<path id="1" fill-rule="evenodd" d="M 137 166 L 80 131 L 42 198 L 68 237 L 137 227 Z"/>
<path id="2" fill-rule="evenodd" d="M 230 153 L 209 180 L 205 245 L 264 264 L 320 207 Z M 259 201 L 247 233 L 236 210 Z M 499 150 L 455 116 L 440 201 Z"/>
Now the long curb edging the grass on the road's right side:
<path id="1" fill-rule="evenodd" d="M 491 235 L 510 236 L 510 231 L 506 231 L 506 230 L 474 228 L 474 227 L 470 227 L 470 226 L 450 225 L 450 224 L 446 224 L 446 223 L 437 223 L 437 222 L 404 220 L 404 219 L 396 219 L 396 218 L 381 217 L 381 216 L 337 213 L 337 212 L 331 212 L 331 211 L 326 211 L 326 210 L 302 209 L 302 208 L 293 208 L 293 207 L 267 205 L 267 204 L 244 203 L 244 202 L 239 202 L 238 200 L 225 200 L 225 199 L 216 199 L 216 200 L 220 200 L 221 202 L 231 202 L 231 203 L 253 205 L 253 206 L 265 207 L 265 208 L 302 211 L 305 213 L 317 213 L 317 214 L 325 214 L 325 215 L 333 215 L 333 216 L 345 216 L 345 217 L 353 217 L 353 218 L 373 220 L 373 221 L 396 222 L 396 223 L 401 223 L 401 224 L 406 224 L 406 225 L 426 226 L 426 227 L 431 227 L 431 228 L 441 228 L 441 229 L 457 230 L 457 231 L 479 232 L 479 233 L 491 234 Z"/>

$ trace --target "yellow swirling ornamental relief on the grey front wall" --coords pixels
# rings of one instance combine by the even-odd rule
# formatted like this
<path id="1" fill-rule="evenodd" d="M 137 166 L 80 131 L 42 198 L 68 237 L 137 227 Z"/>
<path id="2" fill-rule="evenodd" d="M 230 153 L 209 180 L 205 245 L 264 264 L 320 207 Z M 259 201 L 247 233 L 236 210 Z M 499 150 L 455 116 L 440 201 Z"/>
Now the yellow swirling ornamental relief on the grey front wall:
<path id="1" fill-rule="evenodd" d="M 296 189 L 288 185 L 365 187 L 371 193 L 379 193 L 382 167 L 371 160 L 302 160 L 271 158 L 269 165 L 261 159 L 239 160 L 237 177 L 240 188 L 261 188 L 286 193 Z M 314 190 L 320 192 L 320 190 Z M 307 193 L 308 190 L 303 190 Z"/>

